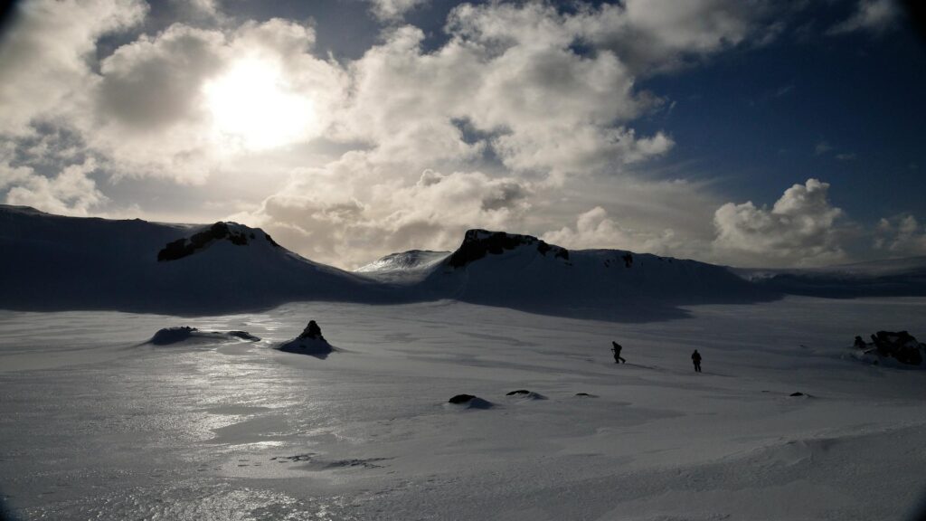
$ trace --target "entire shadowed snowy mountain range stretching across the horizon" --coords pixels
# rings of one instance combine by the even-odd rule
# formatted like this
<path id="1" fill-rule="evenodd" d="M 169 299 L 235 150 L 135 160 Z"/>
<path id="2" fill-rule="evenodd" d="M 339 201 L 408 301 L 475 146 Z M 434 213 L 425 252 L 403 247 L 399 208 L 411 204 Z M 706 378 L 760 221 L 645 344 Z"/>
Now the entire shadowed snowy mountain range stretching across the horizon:
<path id="1" fill-rule="evenodd" d="M 348 273 L 260 229 L 111 221 L 0 206 L 0 308 L 210 313 L 287 301 L 456 299 L 608 320 L 683 316 L 682 305 L 785 293 L 926 295 L 926 259 L 826 270 L 738 271 L 614 249 L 569 250 L 530 235 L 469 230 L 452 252 L 394 253 Z"/>

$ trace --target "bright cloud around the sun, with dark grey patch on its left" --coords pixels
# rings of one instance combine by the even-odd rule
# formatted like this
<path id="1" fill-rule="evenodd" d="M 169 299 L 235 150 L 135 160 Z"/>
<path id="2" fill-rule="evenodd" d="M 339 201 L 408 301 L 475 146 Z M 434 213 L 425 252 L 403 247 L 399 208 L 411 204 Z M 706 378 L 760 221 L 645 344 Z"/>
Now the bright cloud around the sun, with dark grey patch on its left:
<path id="1" fill-rule="evenodd" d="M 204 182 L 252 148 L 324 131 L 346 88 L 314 43 L 310 27 L 282 19 L 143 35 L 103 60 L 84 133 L 122 172 Z"/>

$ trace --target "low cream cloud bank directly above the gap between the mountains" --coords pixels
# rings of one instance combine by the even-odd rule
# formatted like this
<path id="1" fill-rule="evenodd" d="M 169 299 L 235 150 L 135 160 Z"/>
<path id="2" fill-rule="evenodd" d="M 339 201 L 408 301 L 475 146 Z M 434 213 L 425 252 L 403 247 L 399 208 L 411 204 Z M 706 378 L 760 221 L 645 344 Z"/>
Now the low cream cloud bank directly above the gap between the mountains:
<path id="1" fill-rule="evenodd" d="M 374 181 L 389 168 L 351 154 L 295 173 L 258 210 L 231 219 L 314 261 L 356 268 L 394 251 L 457 248 L 467 229 L 505 229 L 531 208 L 531 187 L 512 177 L 426 170 L 411 183 Z"/>

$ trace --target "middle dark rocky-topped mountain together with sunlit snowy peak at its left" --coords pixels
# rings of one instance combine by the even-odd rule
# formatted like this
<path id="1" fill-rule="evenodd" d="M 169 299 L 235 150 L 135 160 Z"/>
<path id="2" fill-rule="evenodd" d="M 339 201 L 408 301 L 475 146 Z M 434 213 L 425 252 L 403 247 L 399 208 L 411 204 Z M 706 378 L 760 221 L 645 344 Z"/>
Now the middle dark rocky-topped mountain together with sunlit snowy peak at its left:
<path id="1" fill-rule="evenodd" d="M 404 280 L 419 298 L 618 320 L 680 316 L 682 304 L 778 295 L 722 266 L 625 250 L 568 250 L 530 235 L 469 230 L 452 253 L 428 253 L 393 254 L 362 270 Z M 406 265 L 406 277 L 396 276 Z"/>

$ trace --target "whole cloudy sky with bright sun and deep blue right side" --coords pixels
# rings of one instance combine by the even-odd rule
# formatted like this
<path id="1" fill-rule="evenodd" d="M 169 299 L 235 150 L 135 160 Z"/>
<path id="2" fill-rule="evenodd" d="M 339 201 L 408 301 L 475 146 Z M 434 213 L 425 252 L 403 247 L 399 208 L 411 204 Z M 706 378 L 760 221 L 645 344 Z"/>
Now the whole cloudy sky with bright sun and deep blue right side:
<path id="1" fill-rule="evenodd" d="M 926 255 L 923 36 L 894 0 L 19 2 L 0 202 L 241 222 L 344 269 L 469 228 Z"/>

